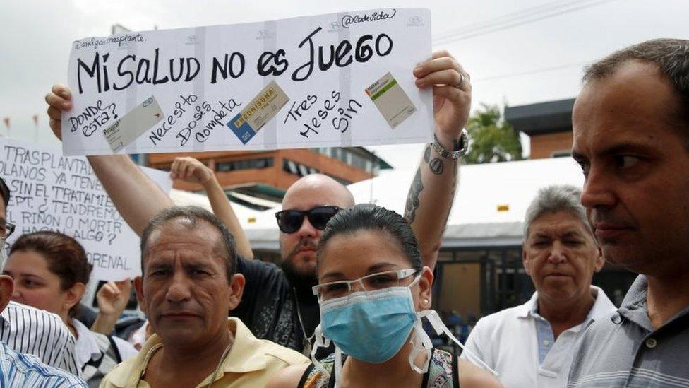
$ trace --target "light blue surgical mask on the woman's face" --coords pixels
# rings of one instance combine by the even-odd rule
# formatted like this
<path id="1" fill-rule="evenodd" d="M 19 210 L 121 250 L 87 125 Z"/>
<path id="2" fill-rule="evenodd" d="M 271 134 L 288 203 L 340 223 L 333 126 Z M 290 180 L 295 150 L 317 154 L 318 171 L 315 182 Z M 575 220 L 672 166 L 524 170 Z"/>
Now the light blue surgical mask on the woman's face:
<path id="1" fill-rule="evenodd" d="M 320 303 L 325 338 L 366 363 L 384 363 L 405 344 L 417 312 L 409 286 L 360 291 Z"/>

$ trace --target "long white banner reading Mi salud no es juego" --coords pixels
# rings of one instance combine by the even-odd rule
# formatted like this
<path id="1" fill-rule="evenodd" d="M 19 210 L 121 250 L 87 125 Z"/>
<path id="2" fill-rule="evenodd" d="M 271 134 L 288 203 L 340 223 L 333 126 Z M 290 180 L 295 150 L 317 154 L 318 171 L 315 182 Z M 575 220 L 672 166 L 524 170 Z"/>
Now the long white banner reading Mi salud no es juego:
<path id="1" fill-rule="evenodd" d="M 431 13 L 380 9 L 74 42 L 65 155 L 423 143 Z"/>

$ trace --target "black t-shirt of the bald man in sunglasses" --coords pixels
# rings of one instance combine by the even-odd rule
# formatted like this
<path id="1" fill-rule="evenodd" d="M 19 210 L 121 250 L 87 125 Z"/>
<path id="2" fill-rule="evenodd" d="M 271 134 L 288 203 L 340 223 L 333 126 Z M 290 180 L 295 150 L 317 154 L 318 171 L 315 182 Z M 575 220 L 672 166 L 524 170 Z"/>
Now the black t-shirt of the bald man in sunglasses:
<path id="1" fill-rule="evenodd" d="M 238 317 L 254 336 L 296 351 L 304 350 L 296 306 L 299 305 L 307 336 L 320 323 L 318 298 L 292 287 L 279 266 L 260 260 L 237 258 L 237 272 L 246 278 L 244 294 L 229 314 Z"/>

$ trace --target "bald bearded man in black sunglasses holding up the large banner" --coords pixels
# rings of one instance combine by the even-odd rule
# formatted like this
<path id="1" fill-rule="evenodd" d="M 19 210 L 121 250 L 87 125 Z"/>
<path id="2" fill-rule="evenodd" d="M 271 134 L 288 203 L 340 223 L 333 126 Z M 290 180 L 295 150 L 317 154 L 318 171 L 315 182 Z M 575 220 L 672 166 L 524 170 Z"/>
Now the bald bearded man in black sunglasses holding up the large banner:
<path id="1" fill-rule="evenodd" d="M 436 264 L 441 237 L 457 184 L 457 159 L 467 151 L 463 131 L 471 107 L 469 75 L 445 51 L 414 69 L 417 87 L 433 88 L 435 141 L 426 146 L 409 190 L 405 217 L 419 240 L 424 264 Z M 50 127 L 61 135 L 61 112 L 71 109 L 68 88 L 56 85 L 46 96 Z M 126 155 L 89 156 L 119 213 L 137 233 L 172 201 Z M 340 208 L 354 205 L 347 187 L 325 175 L 308 175 L 292 184 L 277 213 L 282 265 L 239 258 L 246 278 L 241 303 L 232 315 L 256 337 L 308 353 L 320 321 L 316 284 L 316 245 L 325 223 Z"/>

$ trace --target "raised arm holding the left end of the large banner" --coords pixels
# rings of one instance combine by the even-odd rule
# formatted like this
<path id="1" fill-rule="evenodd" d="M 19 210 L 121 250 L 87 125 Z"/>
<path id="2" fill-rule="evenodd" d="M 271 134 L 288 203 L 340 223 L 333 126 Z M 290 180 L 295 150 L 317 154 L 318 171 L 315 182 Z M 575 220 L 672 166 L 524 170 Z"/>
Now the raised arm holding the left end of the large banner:
<path id="1" fill-rule="evenodd" d="M 71 93 L 62 85 L 53 86 L 45 96 L 50 128 L 62 139 L 62 111 L 71 110 Z M 164 208 L 174 206 L 172 199 L 134 164 L 128 155 L 88 156 L 93 172 L 112 199 L 124 221 L 141 235 L 148 220 Z"/>

